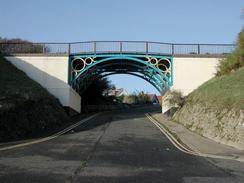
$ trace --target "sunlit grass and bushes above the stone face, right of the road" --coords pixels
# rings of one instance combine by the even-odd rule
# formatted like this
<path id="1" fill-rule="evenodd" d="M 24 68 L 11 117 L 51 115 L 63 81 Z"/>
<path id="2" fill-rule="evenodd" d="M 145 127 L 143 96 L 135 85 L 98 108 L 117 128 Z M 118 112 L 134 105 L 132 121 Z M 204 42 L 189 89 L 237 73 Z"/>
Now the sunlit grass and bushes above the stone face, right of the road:
<path id="1" fill-rule="evenodd" d="M 215 78 L 201 85 L 187 102 L 211 104 L 212 107 L 244 109 L 244 29 L 238 35 L 237 47 L 220 60 Z"/>

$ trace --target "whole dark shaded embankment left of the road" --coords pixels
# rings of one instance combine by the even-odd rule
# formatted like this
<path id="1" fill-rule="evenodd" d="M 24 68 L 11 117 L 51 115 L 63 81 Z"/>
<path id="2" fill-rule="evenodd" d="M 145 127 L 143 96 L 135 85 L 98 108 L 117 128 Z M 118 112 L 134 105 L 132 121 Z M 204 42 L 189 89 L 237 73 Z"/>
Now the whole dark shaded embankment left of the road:
<path id="1" fill-rule="evenodd" d="M 42 136 L 67 119 L 54 96 L 0 56 L 0 141 Z"/>

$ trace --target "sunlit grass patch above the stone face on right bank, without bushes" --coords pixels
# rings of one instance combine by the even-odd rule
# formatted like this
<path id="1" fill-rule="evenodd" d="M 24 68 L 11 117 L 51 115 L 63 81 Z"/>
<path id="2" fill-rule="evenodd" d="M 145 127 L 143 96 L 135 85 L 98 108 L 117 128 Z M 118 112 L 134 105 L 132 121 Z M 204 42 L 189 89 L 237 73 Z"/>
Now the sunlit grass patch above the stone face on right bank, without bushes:
<path id="1" fill-rule="evenodd" d="M 244 67 L 207 81 L 192 92 L 187 101 L 218 108 L 244 110 Z"/>

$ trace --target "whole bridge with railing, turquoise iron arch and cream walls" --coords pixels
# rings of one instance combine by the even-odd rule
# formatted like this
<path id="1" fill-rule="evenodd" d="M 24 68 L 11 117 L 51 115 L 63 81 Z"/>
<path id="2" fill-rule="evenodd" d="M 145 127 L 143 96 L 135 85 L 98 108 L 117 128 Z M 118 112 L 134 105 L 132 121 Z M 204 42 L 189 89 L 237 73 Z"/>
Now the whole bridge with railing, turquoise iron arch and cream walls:
<path id="1" fill-rule="evenodd" d="M 187 94 L 209 79 L 218 58 L 226 56 L 234 48 L 234 44 L 173 44 L 144 41 L 0 43 L 0 50 L 6 58 L 27 74 L 32 71 L 22 67 L 21 63 L 27 62 L 36 68 L 45 66 L 39 69 L 64 81 L 73 90 L 79 91 L 80 95 L 98 77 L 114 74 L 129 74 L 142 78 L 161 94 L 169 88 L 181 89 L 184 82 Z M 34 60 L 41 60 L 42 66 L 37 65 L 38 61 Z M 203 79 L 204 75 L 206 77 Z M 51 93 L 62 103 L 62 94 L 60 91 L 54 91 L 59 89 L 57 83 L 50 83 L 56 87 L 45 86 L 46 83 L 35 77 L 33 74 L 32 78 L 47 89 L 51 88 Z M 46 80 L 48 78 L 45 78 Z"/>

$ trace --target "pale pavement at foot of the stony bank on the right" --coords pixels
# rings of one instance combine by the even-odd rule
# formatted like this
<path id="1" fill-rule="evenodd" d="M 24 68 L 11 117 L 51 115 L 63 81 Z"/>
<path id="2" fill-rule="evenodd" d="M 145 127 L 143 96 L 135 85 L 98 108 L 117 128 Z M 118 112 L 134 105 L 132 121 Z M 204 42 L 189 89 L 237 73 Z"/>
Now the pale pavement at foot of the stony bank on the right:
<path id="1" fill-rule="evenodd" d="M 199 155 L 244 162 L 244 151 L 242 150 L 220 144 L 194 133 L 185 128 L 183 125 L 173 122 L 170 120 L 170 118 L 163 114 L 154 113 L 152 114 L 152 117 L 160 124 L 164 125 L 170 131 L 170 133 L 177 136 L 177 138 L 180 139 L 183 144 Z"/>

